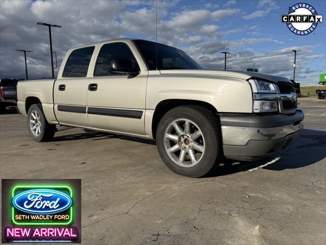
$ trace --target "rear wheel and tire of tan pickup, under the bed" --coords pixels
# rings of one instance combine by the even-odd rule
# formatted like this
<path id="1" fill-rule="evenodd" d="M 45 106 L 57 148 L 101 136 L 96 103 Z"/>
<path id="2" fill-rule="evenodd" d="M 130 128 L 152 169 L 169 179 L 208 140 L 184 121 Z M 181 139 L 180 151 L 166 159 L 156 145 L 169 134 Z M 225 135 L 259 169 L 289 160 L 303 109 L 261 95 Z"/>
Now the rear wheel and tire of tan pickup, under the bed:
<path id="1" fill-rule="evenodd" d="M 41 104 L 30 107 L 27 114 L 27 127 L 35 141 L 51 140 L 56 133 L 56 126 L 47 122 Z"/>

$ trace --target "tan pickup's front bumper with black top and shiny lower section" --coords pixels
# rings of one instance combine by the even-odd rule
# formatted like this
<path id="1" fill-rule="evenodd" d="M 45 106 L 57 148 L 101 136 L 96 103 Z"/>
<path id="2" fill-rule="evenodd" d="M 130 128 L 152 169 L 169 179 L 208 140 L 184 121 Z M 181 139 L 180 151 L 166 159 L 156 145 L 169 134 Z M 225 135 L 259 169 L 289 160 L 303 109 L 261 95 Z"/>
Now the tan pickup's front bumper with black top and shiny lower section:
<path id="1" fill-rule="evenodd" d="M 255 115 L 221 113 L 223 151 L 227 158 L 254 160 L 292 144 L 303 129 L 304 113 Z"/>

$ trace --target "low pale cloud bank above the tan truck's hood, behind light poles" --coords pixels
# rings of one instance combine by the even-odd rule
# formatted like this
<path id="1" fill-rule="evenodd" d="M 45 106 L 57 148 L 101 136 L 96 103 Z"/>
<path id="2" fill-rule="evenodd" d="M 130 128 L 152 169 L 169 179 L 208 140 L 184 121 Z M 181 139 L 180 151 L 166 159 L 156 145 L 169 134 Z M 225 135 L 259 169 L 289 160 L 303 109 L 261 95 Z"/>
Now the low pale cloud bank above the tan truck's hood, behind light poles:
<path id="1" fill-rule="evenodd" d="M 224 56 L 219 52 L 229 50 L 230 47 L 239 47 L 240 43 L 257 43 L 262 39 L 239 40 L 238 42 L 213 42 L 205 43 L 201 46 L 190 47 L 188 53 L 208 69 L 223 69 Z M 315 46 L 292 46 L 282 48 L 277 51 L 270 51 L 263 54 L 255 53 L 251 50 L 230 51 L 227 66 L 232 70 L 247 70 L 247 68 L 257 68 L 259 72 L 275 74 L 291 78 L 293 76 L 293 52 L 297 50 L 296 80 L 303 84 L 314 84 L 314 76 L 318 76 L 321 70 L 307 67 L 310 60 L 324 59 L 326 55 L 311 55 Z M 192 52 L 191 52 L 192 51 Z M 198 54 L 198 55 L 196 55 Z"/>

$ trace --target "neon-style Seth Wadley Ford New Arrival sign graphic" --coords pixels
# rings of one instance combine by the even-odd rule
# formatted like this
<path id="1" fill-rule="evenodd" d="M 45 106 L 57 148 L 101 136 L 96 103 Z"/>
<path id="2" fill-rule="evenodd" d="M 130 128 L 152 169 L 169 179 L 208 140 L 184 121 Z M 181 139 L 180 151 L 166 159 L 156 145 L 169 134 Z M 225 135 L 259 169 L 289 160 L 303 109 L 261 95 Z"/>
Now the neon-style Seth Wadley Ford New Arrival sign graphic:
<path id="1" fill-rule="evenodd" d="M 2 180 L 2 241 L 80 243 L 80 180 L 21 182 Z"/>

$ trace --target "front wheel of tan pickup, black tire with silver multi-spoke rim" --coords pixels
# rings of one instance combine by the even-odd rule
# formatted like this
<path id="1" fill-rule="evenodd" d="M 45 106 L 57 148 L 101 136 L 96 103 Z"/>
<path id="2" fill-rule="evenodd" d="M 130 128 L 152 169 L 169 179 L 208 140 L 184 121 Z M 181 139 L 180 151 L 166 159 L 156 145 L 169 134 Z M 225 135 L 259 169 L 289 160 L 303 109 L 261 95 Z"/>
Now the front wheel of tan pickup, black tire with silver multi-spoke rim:
<path id="1" fill-rule="evenodd" d="M 167 167 L 187 177 L 208 174 L 223 155 L 220 121 L 200 106 L 168 111 L 158 124 L 156 142 Z"/>

